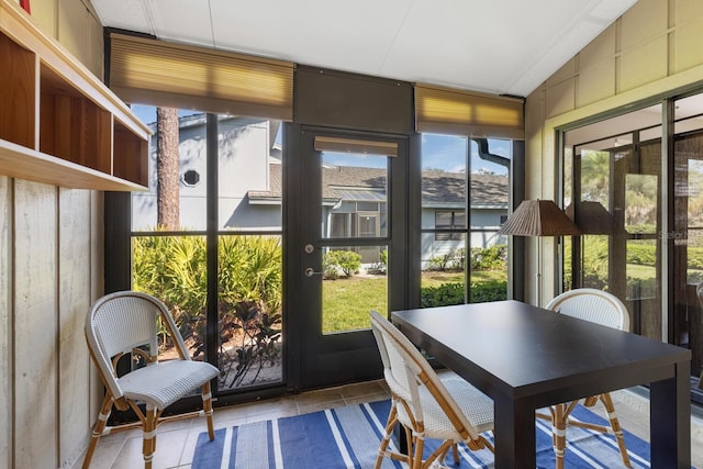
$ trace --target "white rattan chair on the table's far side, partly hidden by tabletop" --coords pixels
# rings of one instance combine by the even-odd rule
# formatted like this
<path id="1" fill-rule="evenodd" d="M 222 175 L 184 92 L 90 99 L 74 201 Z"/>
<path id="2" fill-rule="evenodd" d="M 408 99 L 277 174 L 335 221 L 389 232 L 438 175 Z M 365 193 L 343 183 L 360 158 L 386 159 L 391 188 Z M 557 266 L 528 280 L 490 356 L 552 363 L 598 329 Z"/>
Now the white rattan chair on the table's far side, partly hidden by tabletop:
<path id="1" fill-rule="evenodd" d="M 560 314 L 629 332 L 629 313 L 627 312 L 627 309 L 623 302 L 617 299 L 617 297 L 603 290 L 592 288 L 569 290 L 551 300 L 547 304 L 546 309 L 556 311 Z M 579 402 L 582 402 L 587 407 L 592 407 L 598 401 L 603 403 L 603 406 L 605 407 L 610 426 L 581 422 L 571 417 L 571 412 Z M 565 404 L 553 405 L 549 407 L 549 413 L 550 415 L 538 412 L 537 416 L 551 421 L 557 468 L 561 469 L 563 467 L 566 428 L 568 425 L 614 434 L 617 439 L 617 446 L 620 447 L 623 462 L 625 466 L 631 467 L 627 448 L 625 447 L 625 439 L 623 438 L 623 431 L 620 426 L 617 415 L 615 414 L 615 407 L 610 393 L 603 393 Z"/>

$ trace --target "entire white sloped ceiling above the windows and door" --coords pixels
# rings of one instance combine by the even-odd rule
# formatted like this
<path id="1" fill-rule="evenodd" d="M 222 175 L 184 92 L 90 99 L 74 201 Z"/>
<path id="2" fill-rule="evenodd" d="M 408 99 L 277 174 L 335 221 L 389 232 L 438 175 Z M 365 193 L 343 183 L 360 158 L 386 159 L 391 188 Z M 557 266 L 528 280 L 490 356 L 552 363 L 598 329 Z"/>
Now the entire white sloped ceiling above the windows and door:
<path id="1" fill-rule="evenodd" d="M 91 0 L 159 40 L 526 97 L 637 0 Z"/>

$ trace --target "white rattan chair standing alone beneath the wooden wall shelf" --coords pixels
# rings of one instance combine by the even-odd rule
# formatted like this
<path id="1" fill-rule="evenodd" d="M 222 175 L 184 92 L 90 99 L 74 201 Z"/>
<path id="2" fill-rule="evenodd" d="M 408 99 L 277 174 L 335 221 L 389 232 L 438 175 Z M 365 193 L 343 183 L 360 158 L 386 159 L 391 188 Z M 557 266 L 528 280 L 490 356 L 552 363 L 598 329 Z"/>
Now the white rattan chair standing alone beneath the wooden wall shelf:
<path id="1" fill-rule="evenodd" d="M 177 359 L 157 359 L 159 317 L 174 340 L 179 355 Z M 134 291 L 122 291 L 101 298 L 86 316 L 86 339 L 90 356 L 105 386 L 105 397 L 93 426 L 83 468 L 90 466 L 100 437 L 111 432 L 142 427 L 145 468 L 152 467 L 156 451 L 156 427 L 165 421 L 204 415 L 210 439 L 214 439 L 210 380 L 219 375 L 219 370 L 210 364 L 190 359 L 176 323 L 161 301 Z M 145 345 L 146 350 L 143 348 Z M 147 365 L 118 377 L 116 364 L 125 354 L 140 356 Z M 164 409 L 192 394 L 199 388 L 203 411 L 171 417 L 161 416 Z M 131 407 L 140 421 L 108 426 L 108 417 L 113 405 L 120 411 Z"/>

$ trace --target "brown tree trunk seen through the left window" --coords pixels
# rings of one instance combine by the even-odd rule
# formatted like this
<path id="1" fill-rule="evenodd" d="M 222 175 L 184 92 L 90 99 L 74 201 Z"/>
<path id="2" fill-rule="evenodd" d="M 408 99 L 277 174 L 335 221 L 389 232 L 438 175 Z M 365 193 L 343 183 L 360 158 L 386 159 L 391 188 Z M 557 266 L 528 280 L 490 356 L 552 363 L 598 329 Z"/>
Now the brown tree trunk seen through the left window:
<path id="1" fill-rule="evenodd" d="M 163 230 L 179 228 L 178 110 L 156 109 L 157 225 Z"/>

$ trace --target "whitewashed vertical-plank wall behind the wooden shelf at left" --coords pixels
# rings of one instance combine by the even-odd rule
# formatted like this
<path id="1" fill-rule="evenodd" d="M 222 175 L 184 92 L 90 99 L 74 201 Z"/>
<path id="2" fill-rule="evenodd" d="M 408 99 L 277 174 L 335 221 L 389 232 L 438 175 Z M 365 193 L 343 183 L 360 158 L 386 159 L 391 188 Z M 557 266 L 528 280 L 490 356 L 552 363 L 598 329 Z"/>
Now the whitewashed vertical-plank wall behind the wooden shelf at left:
<path id="1" fill-rule="evenodd" d="M 102 76 L 86 3 L 32 0 L 32 18 Z M 0 176 L 0 468 L 72 467 L 86 448 L 99 387 L 82 324 L 102 271 L 100 193 Z"/>

